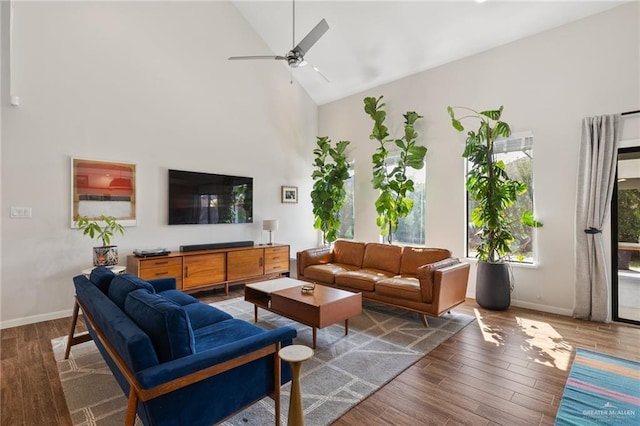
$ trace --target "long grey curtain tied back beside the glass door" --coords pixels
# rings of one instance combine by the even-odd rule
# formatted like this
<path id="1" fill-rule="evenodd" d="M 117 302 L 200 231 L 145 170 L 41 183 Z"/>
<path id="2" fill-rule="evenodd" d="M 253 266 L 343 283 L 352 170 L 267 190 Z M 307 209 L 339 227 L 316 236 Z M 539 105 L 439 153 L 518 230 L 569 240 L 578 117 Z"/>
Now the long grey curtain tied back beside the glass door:
<path id="1" fill-rule="evenodd" d="M 582 120 L 576 205 L 574 318 L 609 320 L 611 273 L 602 227 L 611 210 L 620 114 Z"/>

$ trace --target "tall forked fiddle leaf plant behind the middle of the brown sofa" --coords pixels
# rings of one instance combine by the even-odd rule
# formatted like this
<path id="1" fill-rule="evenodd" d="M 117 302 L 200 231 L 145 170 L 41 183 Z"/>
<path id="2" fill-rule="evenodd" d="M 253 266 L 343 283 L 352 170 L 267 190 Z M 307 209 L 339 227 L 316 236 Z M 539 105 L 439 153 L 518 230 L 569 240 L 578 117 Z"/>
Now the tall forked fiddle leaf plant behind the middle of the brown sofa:
<path id="1" fill-rule="evenodd" d="M 369 138 L 378 142 L 378 148 L 373 153 L 373 179 L 371 183 L 374 189 L 380 191 L 375 202 L 378 217 L 376 224 L 380 228 L 380 235 L 386 236 L 389 244 L 393 241 L 393 233 L 398 230 L 401 218 L 407 217 L 413 209 L 413 200 L 407 195 L 414 191 L 413 180 L 407 177 L 407 168 L 420 170 L 424 167 L 424 157 L 427 148 L 417 145 L 418 132 L 415 123 L 423 118 L 415 111 L 403 114 L 404 134 L 393 139 L 389 137 L 389 129 L 384 124 L 387 113 L 384 110 L 382 96 L 379 98 L 367 97 L 364 99 L 364 111 L 373 120 L 373 129 Z M 389 146 L 394 147 L 399 160 L 391 168 L 388 160 L 392 153 Z"/>

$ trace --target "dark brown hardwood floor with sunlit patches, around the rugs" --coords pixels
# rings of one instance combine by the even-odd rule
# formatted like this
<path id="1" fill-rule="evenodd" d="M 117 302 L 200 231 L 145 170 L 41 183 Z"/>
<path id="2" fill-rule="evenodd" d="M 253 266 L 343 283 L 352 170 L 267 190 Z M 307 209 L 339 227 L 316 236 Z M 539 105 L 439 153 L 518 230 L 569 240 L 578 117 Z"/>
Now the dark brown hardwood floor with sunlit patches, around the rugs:
<path id="1" fill-rule="evenodd" d="M 229 297 L 242 295 L 232 287 Z M 200 293 L 211 303 L 221 290 Z M 477 318 L 334 425 L 552 425 L 575 347 L 640 360 L 640 328 L 514 308 Z M 70 425 L 51 339 L 70 318 L 0 331 L 0 424 Z M 316 426 L 316 425 L 310 425 Z"/>

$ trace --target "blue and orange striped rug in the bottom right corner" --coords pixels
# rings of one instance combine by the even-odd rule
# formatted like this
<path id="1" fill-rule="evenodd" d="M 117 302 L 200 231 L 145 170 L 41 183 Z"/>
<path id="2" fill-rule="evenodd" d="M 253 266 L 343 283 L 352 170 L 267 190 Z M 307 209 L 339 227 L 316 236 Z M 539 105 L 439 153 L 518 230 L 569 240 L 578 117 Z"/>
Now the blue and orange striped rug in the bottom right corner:
<path id="1" fill-rule="evenodd" d="M 556 425 L 639 425 L 640 363 L 576 349 Z"/>

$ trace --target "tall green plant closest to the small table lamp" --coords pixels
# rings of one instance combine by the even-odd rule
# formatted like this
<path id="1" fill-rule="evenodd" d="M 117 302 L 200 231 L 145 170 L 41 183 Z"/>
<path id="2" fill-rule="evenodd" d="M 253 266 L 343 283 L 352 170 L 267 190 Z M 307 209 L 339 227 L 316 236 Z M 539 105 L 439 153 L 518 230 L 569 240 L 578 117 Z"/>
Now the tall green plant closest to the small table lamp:
<path id="1" fill-rule="evenodd" d="M 333 147 L 327 136 L 318 136 L 318 147 L 313 150 L 313 227 L 322 231 L 324 244 L 335 241 L 340 230 L 340 212 L 346 196 L 344 182 L 349 178 L 350 165 L 345 154 L 349 143 L 340 141 Z"/>

